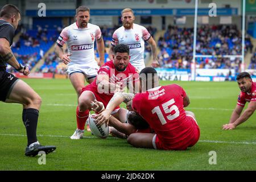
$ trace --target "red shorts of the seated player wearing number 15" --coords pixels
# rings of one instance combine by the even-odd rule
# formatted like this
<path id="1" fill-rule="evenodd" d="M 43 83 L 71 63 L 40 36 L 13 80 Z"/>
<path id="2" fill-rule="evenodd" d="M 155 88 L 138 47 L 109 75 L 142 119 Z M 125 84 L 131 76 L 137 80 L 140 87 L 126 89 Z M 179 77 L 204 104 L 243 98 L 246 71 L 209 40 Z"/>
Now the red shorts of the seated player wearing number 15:
<path id="1" fill-rule="evenodd" d="M 162 142 L 156 134 L 152 140 L 154 148 L 160 150 L 186 150 L 188 147 L 194 146 L 199 140 L 200 129 L 196 120 L 191 115 L 187 115 L 186 119 L 192 123 L 191 134 L 189 134 L 185 139 L 175 142 L 175 144 Z"/>

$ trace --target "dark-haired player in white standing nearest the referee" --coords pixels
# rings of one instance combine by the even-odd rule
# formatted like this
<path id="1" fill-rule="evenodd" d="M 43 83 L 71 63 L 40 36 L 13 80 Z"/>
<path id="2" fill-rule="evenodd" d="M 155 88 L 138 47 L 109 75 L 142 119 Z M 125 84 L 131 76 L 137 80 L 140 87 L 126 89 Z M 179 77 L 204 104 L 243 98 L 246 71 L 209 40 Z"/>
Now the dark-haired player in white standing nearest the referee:
<path id="1" fill-rule="evenodd" d="M 85 86 L 85 79 L 90 84 L 97 75 L 99 66 L 104 64 L 105 46 L 101 35 L 100 27 L 88 23 L 90 19 L 90 9 L 80 6 L 76 9 L 76 22 L 65 27 L 55 45 L 55 53 L 64 64 L 68 65 L 68 75 L 79 98 L 82 88 Z M 98 63 L 94 55 L 94 41 L 97 42 L 97 50 L 100 55 Z M 63 45 L 67 44 L 68 53 L 63 51 Z M 86 122 L 88 115 L 84 111 L 76 109 L 77 122 Z M 76 130 L 71 139 L 79 139 Z M 89 130 L 89 127 L 88 127 Z"/>

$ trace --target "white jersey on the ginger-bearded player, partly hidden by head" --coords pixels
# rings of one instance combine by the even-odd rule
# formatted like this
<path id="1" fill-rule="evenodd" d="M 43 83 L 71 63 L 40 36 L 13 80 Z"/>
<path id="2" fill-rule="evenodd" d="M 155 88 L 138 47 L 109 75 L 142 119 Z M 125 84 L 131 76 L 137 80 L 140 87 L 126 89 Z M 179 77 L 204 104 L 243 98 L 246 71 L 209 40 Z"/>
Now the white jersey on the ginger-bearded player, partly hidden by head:
<path id="1" fill-rule="evenodd" d="M 144 64 L 144 41 L 150 39 L 151 35 L 147 28 L 133 23 L 133 28 L 126 30 L 125 27 L 119 27 L 114 31 L 112 46 L 117 44 L 126 44 L 130 48 L 130 63 L 135 68 L 145 67 Z"/>

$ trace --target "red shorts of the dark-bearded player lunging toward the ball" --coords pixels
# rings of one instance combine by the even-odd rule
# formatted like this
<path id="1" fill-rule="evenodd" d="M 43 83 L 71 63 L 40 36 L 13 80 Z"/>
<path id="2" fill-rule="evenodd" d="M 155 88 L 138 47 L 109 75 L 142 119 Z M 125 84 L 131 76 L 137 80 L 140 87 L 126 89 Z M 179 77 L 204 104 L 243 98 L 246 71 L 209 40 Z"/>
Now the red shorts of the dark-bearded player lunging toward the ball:
<path id="1" fill-rule="evenodd" d="M 95 90 L 90 84 L 86 85 L 84 88 L 82 88 L 81 94 L 84 91 L 92 92 L 94 98 L 96 98 L 97 101 L 102 102 L 105 108 L 109 104 L 109 101 L 111 100 L 111 98 L 113 97 L 113 94 L 109 95 L 109 94 L 105 94 L 105 93 L 98 93 L 98 91 Z M 120 109 L 119 106 L 115 107 L 112 114 L 117 113 L 117 111 L 119 109 Z"/>

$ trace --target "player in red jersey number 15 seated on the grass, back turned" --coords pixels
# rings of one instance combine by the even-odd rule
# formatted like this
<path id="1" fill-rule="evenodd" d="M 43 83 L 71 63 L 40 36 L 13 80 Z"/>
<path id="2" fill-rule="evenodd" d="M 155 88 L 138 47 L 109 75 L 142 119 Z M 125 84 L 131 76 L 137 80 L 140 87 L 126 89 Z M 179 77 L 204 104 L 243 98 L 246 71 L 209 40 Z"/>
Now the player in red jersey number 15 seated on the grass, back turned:
<path id="1" fill-rule="evenodd" d="M 96 118 L 97 125 L 108 123 L 115 105 L 132 100 L 133 110 L 144 118 L 155 133 L 133 133 L 127 142 L 135 147 L 162 150 L 186 150 L 197 143 L 200 129 L 195 114 L 185 111 L 189 98 L 181 86 L 159 86 L 154 68 L 144 68 L 139 74 L 141 93 L 115 93 L 106 110 Z"/>

